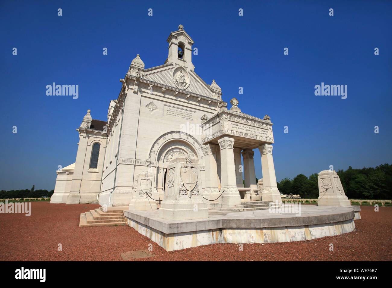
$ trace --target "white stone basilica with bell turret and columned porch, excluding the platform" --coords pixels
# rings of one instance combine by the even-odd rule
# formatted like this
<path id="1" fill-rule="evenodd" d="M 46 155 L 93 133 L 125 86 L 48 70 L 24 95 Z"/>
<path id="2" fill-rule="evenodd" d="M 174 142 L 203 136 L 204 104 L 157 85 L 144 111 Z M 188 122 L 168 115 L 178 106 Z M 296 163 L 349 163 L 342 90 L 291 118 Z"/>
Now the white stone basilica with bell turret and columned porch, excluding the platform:
<path id="1" fill-rule="evenodd" d="M 241 112 L 236 98 L 227 109 L 218 84 L 212 80 L 208 85 L 196 74 L 194 41 L 182 25 L 167 42 L 169 55 L 163 65 L 145 69 L 139 55 L 132 60 L 120 80 L 118 98 L 110 101 L 107 121 L 93 120 L 87 110 L 76 129 L 76 161 L 57 171 L 51 203 L 156 210 L 167 197 L 165 190 L 178 194 L 171 167 L 184 167 L 173 203 L 198 197 L 197 203 L 204 201 L 209 209 L 232 209 L 241 199 L 281 202 L 269 116 L 260 119 Z M 253 149 L 261 154 L 259 183 Z"/>

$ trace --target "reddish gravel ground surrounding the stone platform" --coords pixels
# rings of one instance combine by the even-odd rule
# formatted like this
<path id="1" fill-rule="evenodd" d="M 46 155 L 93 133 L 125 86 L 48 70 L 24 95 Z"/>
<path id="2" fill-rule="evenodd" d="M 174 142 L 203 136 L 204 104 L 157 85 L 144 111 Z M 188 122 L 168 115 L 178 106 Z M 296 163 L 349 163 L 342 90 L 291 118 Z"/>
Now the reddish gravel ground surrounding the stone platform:
<path id="1" fill-rule="evenodd" d="M 30 217 L 0 214 L 0 261 L 123 261 L 120 254 L 146 250 L 140 261 L 376 261 L 392 259 L 392 208 L 361 206 L 356 231 L 310 241 L 269 244 L 214 244 L 167 252 L 129 226 L 79 227 L 80 213 L 95 204 L 32 203 Z M 58 244 L 62 251 L 58 251 Z M 334 251 L 329 251 L 329 244 Z"/>

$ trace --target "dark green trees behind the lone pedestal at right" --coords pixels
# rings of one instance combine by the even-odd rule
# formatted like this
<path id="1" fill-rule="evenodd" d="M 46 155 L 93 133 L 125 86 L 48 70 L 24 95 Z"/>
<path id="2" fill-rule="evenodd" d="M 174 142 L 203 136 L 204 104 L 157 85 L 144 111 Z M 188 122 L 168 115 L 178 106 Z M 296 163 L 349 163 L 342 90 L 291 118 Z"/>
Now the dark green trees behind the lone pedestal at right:
<path id="1" fill-rule="evenodd" d="M 344 192 L 349 199 L 392 199 L 392 165 L 338 170 Z M 281 194 L 298 195 L 301 198 L 318 198 L 318 173 L 308 177 L 298 174 L 294 179 L 285 178 L 278 182 Z"/>

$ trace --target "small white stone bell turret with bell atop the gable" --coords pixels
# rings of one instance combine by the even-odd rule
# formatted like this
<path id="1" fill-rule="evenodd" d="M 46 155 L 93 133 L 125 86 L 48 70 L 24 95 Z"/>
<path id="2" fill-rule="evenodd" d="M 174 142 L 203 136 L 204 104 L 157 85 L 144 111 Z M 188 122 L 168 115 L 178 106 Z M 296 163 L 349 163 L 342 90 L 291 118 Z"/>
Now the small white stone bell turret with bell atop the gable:
<path id="1" fill-rule="evenodd" d="M 188 70 L 194 70 L 192 64 L 192 45 L 194 41 L 185 32 L 183 25 L 180 24 L 177 31 L 170 33 L 167 43 L 169 43 L 169 55 L 165 64 L 178 64 Z"/>

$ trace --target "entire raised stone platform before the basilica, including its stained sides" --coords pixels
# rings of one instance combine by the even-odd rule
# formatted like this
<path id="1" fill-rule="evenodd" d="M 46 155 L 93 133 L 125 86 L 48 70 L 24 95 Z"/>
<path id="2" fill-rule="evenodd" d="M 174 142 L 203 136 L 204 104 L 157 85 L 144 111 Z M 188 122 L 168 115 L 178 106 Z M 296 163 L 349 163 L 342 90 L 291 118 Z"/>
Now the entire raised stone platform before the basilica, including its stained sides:
<path id="1" fill-rule="evenodd" d="M 214 243 L 273 243 L 334 236 L 355 229 L 350 207 L 302 205 L 301 215 L 269 210 L 209 210 L 208 219 L 168 221 L 158 211 L 124 211 L 127 224 L 167 251 Z"/>

